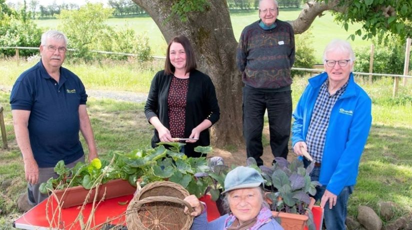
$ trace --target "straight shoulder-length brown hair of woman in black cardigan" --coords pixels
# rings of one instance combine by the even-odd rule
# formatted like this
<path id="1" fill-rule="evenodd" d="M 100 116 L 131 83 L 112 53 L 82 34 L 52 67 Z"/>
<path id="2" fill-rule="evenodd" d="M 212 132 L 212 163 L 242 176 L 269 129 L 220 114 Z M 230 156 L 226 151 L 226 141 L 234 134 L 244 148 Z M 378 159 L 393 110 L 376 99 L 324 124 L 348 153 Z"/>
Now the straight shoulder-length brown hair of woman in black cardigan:
<path id="1" fill-rule="evenodd" d="M 173 37 L 169 44 L 167 45 L 167 53 L 166 53 L 166 61 L 164 62 L 164 73 L 165 74 L 173 74 L 174 73 L 174 66 L 170 62 L 170 45 L 171 43 L 176 42 L 180 43 L 183 48 L 184 52 L 186 53 L 186 66 L 185 70 L 186 73 L 189 73 L 192 70 L 196 69 L 196 59 L 194 58 L 193 47 L 190 44 L 189 39 L 187 37 L 180 35 Z"/>

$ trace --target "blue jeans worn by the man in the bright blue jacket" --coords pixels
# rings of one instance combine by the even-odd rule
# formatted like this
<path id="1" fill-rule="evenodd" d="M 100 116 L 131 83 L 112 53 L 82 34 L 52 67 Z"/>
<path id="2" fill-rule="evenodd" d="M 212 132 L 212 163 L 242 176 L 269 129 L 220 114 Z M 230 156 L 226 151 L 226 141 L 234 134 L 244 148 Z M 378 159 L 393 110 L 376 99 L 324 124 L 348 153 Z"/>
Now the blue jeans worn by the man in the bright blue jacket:
<path id="1" fill-rule="evenodd" d="M 320 167 L 314 167 L 310 173 L 310 179 L 312 181 L 318 181 L 320 175 Z M 313 197 L 316 201 L 320 201 L 326 186 L 317 186 L 316 195 Z M 339 195 L 337 195 L 336 205 L 329 209 L 329 202 L 326 202 L 324 206 L 324 224 L 326 229 L 332 230 L 345 230 L 345 220 L 347 214 L 347 201 L 349 196 L 353 192 L 353 186 L 345 186 Z"/>

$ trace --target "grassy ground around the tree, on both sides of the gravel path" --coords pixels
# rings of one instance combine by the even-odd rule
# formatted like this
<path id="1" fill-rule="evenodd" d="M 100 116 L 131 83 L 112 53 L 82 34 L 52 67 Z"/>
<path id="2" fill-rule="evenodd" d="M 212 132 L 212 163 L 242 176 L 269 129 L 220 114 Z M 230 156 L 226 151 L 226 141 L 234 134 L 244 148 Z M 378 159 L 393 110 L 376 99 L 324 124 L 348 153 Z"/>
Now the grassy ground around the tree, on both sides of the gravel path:
<path id="1" fill-rule="evenodd" d="M 3 86 L 10 87 L 17 75 L 34 63 L 0 60 Z M 72 64 L 67 66 L 78 74 L 86 89 L 121 89 L 147 92 L 150 80 L 161 63 L 147 67 L 134 62 L 109 62 L 102 65 Z M 357 207 L 366 205 L 377 211 L 379 201 L 395 203 L 396 217 L 412 213 L 412 85 L 399 86 L 398 97 L 391 98 L 392 79 L 382 78 L 372 85 L 356 81 L 372 98 L 372 129 L 362 155 L 359 176 L 348 205 L 349 216 L 357 215 Z M 292 97 L 297 102 L 305 78 L 295 78 Z M 0 229 L 11 229 L 11 223 L 21 213 L 16 200 L 25 192 L 21 154 L 12 128 L 9 92 L 0 90 L 0 105 L 4 107 L 9 150 L 0 150 Z M 144 118 L 143 104 L 93 100 L 87 103 L 99 154 L 107 158 L 111 151 L 128 152 L 147 148 L 152 127 Z M 84 141 L 81 140 L 84 145 Z M 2 144 L 0 143 L 0 148 Z M 85 149 L 87 150 L 87 148 Z"/>

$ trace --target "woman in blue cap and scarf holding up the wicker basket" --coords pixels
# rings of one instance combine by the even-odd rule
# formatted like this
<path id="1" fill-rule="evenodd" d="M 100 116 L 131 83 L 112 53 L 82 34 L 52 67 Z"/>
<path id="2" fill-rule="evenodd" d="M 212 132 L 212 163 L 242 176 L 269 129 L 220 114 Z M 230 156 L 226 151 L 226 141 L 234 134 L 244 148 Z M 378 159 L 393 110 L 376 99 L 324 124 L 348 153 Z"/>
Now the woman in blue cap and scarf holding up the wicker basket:
<path id="1" fill-rule="evenodd" d="M 191 230 L 283 230 L 272 218 L 263 198 L 264 181 L 253 168 L 238 166 L 224 180 L 224 207 L 230 212 L 208 223 L 206 207 L 194 195 L 186 197 L 193 208 Z M 187 212 L 187 208 L 185 209 Z"/>

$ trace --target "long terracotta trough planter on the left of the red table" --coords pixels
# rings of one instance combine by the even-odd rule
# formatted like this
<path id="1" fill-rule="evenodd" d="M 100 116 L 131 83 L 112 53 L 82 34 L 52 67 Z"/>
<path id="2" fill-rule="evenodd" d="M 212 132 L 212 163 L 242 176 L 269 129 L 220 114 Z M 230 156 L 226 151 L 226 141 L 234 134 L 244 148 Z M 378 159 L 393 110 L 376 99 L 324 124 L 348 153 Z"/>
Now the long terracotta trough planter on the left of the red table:
<path id="1" fill-rule="evenodd" d="M 123 181 L 121 179 L 112 180 L 112 181 L 107 182 L 106 184 L 99 186 L 96 201 L 98 202 L 102 200 L 103 196 L 104 196 L 104 199 L 111 199 L 111 198 L 131 195 L 135 191 L 136 191 L 136 188 L 131 186 L 128 183 L 128 181 Z M 64 209 L 64 208 L 82 205 L 89 192 L 90 192 L 90 195 L 86 203 L 91 203 L 93 202 L 94 196 L 96 193 L 95 188 L 91 189 L 90 191 L 90 190 L 84 189 L 82 186 L 76 186 L 76 187 L 68 188 L 65 190 L 55 190 L 52 196 L 57 198 L 57 202 L 59 202 L 61 208 Z"/>

